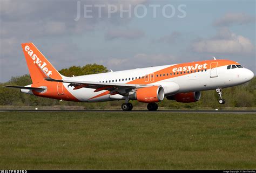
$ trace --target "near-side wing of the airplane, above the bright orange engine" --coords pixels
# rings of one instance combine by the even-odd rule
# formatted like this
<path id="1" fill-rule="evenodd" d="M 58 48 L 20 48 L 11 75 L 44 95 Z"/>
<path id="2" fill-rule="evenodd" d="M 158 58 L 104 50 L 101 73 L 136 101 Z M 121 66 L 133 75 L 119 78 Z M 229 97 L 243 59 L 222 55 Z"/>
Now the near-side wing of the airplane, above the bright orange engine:
<path id="1" fill-rule="evenodd" d="M 150 87 L 154 85 L 140 85 L 140 84 L 118 84 L 118 83 L 102 83 L 102 82 L 92 82 L 92 81 L 74 81 L 74 80 L 57 80 L 52 78 L 45 78 L 47 81 L 51 82 L 64 82 L 69 83 L 69 87 L 74 87 L 73 89 L 80 89 L 80 88 L 92 88 L 95 89 L 94 92 L 99 92 L 103 90 L 110 91 L 111 95 L 114 94 L 121 94 L 124 95 L 127 92 L 132 91 L 132 89 L 136 88 L 143 88 L 143 87 Z"/>

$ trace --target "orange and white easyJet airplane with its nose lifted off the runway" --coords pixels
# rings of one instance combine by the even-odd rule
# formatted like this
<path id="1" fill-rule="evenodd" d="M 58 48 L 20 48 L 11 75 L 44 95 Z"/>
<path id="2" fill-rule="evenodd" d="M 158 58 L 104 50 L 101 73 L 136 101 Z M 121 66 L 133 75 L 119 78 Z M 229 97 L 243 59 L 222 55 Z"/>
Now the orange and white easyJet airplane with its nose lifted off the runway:
<path id="1" fill-rule="evenodd" d="M 121 108 L 132 110 L 130 100 L 147 103 L 147 109 L 158 109 L 157 102 L 168 100 L 190 103 L 201 97 L 201 91 L 215 89 L 219 103 L 224 104 L 222 89 L 250 81 L 254 74 L 232 60 L 216 59 L 192 63 L 136 68 L 100 74 L 65 77 L 43 56 L 33 43 L 22 49 L 32 84 L 5 86 L 22 93 L 44 98 L 103 102 L 124 100 Z"/>

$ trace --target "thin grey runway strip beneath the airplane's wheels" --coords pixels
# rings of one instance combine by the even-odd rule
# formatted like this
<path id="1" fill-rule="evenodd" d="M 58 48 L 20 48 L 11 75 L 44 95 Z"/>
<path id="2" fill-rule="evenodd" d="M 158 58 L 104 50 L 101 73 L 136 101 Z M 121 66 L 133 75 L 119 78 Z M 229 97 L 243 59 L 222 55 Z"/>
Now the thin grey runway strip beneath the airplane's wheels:
<path id="1" fill-rule="evenodd" d="M 132 110 L 124 112 L 123 110 L 14 110 L 14 109 L 1 109 L 0 112 L 113 112 L 113 113 L 214 113 L 214 114 L 256 114 L 256 110 Z"/>

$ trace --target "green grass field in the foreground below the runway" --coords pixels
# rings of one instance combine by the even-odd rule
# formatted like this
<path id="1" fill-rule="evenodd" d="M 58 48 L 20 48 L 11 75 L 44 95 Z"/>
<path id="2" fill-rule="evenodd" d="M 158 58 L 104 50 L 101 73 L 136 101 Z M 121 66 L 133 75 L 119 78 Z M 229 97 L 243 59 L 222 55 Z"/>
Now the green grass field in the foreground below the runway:
<path id="1" fill-rule="evenodd" d="M 256 114 L 0 113 L 1 169 L 256 169 Z"/>

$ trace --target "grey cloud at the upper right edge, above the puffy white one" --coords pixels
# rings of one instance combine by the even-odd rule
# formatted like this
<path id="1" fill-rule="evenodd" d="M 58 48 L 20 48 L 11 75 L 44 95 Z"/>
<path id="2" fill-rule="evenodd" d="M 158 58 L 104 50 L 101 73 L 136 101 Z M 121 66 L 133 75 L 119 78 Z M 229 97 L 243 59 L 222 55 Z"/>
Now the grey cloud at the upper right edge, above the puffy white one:
<path id="1" fill-rule="evenodd" d="M 213 26 L 244 25 L 255 23 L 255 17 L 245 13 L 226 13 L 222 18 L 215 20 Z"/>

